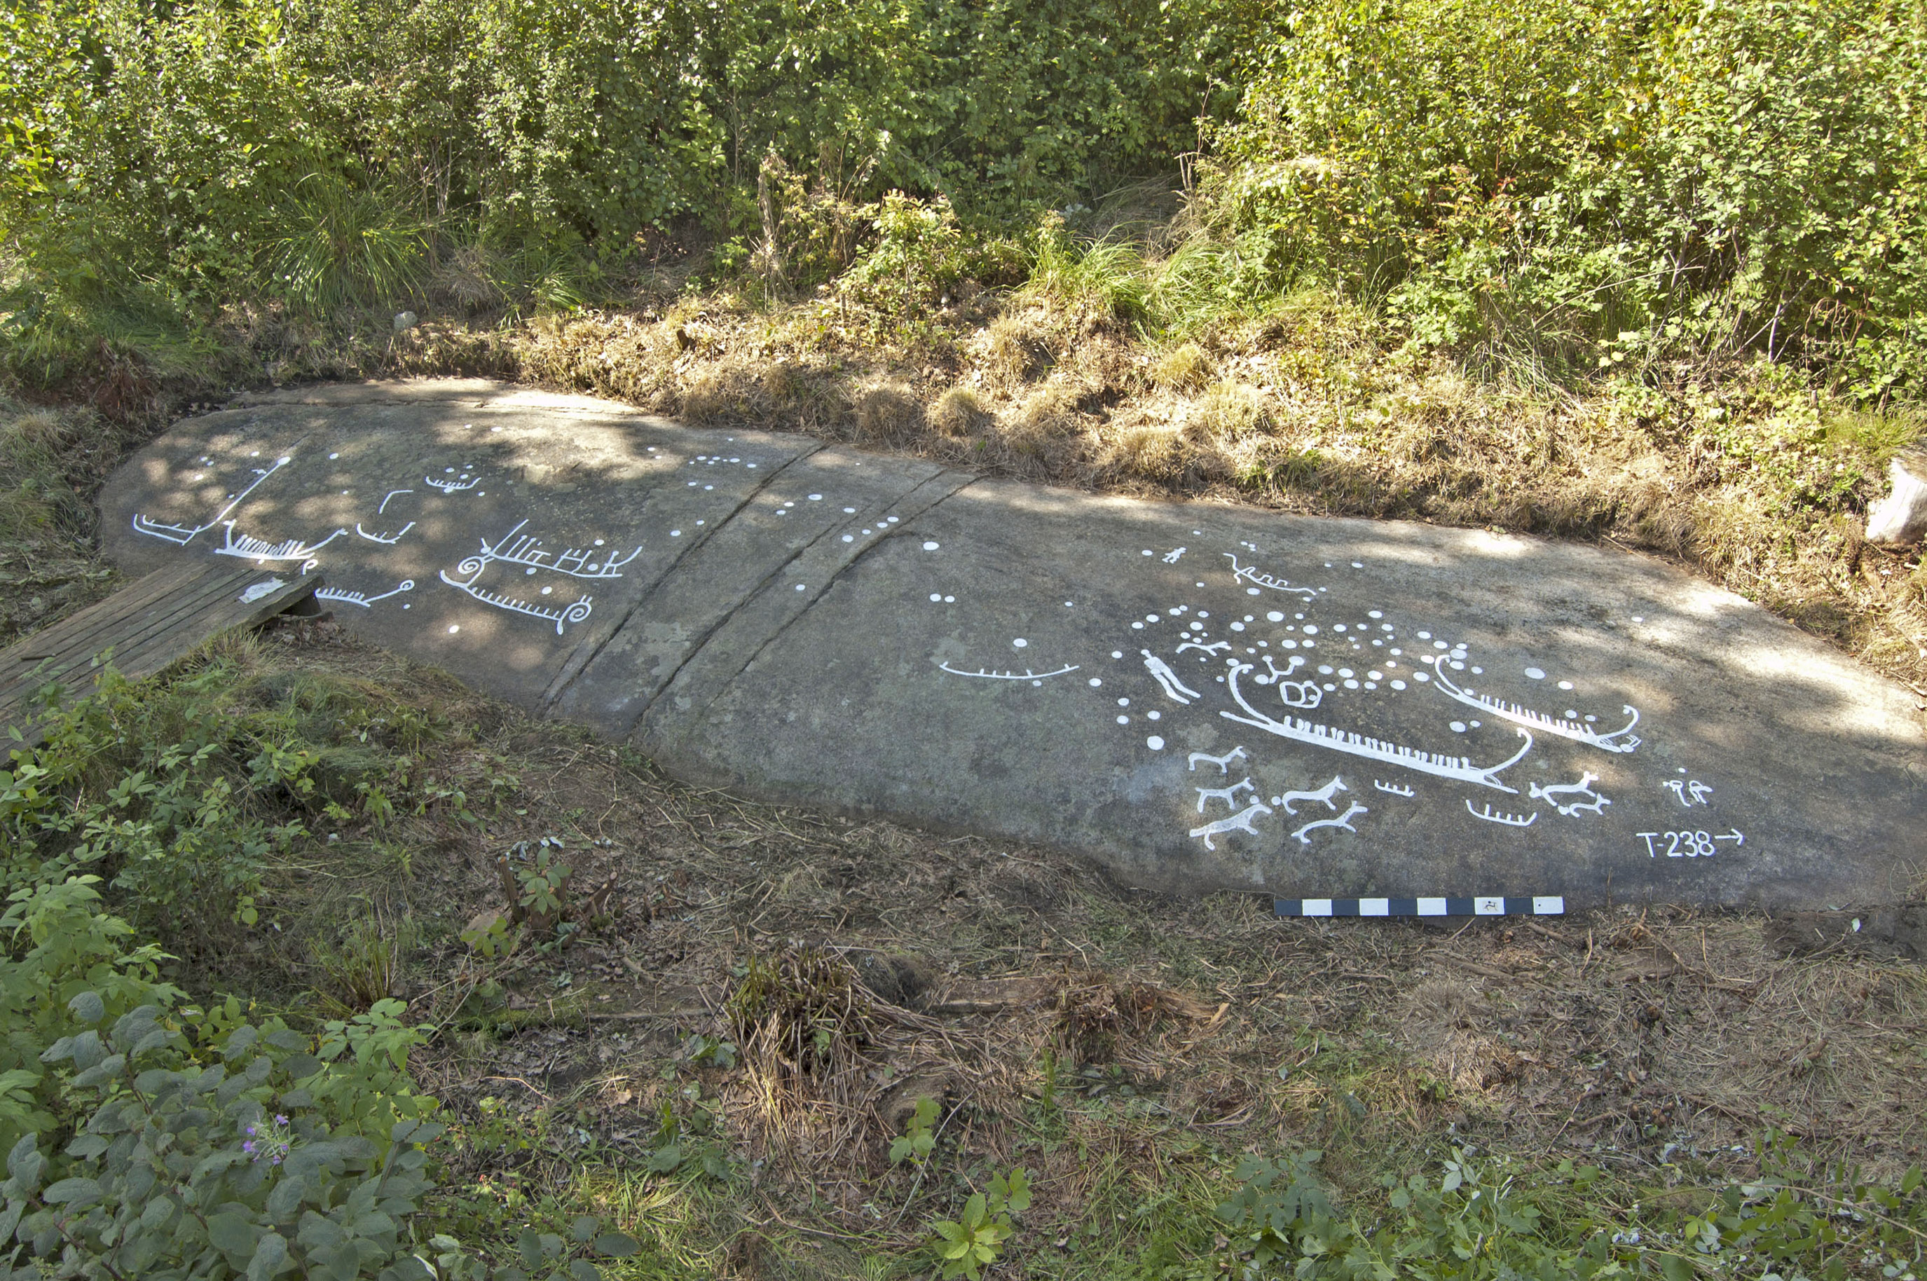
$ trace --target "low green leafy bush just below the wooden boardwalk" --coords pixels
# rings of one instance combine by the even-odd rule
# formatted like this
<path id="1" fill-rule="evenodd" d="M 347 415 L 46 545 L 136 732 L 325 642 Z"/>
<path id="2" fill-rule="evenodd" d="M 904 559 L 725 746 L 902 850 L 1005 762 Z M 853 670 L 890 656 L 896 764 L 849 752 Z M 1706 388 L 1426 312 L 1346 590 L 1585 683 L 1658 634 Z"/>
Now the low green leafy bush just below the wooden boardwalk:
<path id="1" fill-rule="evenodd" d="M 98 873 L 135 927 L 206 934 L 258 917 L 266 865 L 310 826 L 382 826 L 432 803 L 389 749 L 437 732 L 422 713 L 324 680 L 279 692 L 216 659 L 172 684 L 106 670 L 0 769 L 13 884 Z"/>

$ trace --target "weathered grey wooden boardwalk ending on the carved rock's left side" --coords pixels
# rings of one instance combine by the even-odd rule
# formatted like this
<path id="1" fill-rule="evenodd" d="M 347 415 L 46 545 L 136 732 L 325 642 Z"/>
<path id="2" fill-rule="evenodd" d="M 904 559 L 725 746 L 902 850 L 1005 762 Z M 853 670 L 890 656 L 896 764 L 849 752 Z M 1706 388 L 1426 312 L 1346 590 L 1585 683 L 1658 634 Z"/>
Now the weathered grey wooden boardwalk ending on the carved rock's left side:
<path id="1" fill-rule="evenodd" d="M 71 618 L 0 651 L 0 759 L 17 728 L 37 744 L 39 692 L 58 682 L 67 697 L 92 688 L 102 665 L 141 680 L 212 636 L 256 626 L 314 595 L 320 574 L 193 561 L 156 570 Z M 96 663 L 98 659 L 98 663 Z"/>

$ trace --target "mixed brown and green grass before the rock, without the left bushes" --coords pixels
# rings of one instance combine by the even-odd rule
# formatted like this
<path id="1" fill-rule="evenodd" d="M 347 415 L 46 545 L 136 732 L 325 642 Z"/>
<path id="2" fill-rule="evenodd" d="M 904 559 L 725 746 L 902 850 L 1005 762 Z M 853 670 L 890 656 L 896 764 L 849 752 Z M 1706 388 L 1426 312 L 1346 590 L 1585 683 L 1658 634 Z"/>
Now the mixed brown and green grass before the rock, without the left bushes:
<path id="1" fill-rule="evenodd" d="M 210 923 L 173 977 L 297 1025 L 403 998 L 457 1125 L 436 1223 L 482 1244 L 597 1214 L 646 1242 L 617 1277 L 927 1275 L 929 1223 L 1023 1165 L 1035 1202 L 994 1275 L 1212 1275 L 1245 1154 L 1322 1150 L 1360 1223 L 1386 1175 L 1436 1179 L 1453 1148 L 1532 1179 L 1580 1162 L 1599 1181 L 1542 1200 L 1584 1233 L 1761 1177 L 1769 1129 L 1821 1187 L 1927 1144 L 1919 967 L 1808 955 L 1757 915 L 1285 923 L 692 790 L 328 620 L 181 674 L 206 663 L 229 720 L 314 751 L 372 726 L 410 796 L 464 796 L 314 824 L 266 869 L 262 927 Z M 543 838 L 574 869 L 559 928 L 480 952 L 497 855 Z M 892 1163 L 925 1096 L 929 1165 Z"/>

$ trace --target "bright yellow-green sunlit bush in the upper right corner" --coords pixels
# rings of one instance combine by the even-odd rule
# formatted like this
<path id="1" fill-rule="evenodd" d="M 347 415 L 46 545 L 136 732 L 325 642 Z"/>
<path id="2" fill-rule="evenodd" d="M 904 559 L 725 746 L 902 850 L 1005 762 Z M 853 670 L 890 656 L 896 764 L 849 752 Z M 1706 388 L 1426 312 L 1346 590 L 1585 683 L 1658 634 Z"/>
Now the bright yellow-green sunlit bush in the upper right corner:
<path id="1" fill-rule="evenodd" d="M 1247 287 L 1572 368 L 1759 351 L 1917 379 L 1927 27 L 1838 0 L 1386 0 L 1297 17 L 1222 131 Z"/>

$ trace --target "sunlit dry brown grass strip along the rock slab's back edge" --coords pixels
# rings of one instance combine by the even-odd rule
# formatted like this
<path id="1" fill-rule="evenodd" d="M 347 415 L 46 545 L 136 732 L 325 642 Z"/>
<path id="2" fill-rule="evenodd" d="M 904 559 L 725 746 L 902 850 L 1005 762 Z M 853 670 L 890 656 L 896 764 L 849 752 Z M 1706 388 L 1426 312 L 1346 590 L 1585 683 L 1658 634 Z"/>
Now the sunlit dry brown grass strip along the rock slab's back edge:
<path id="1" fill-rule="evenodd" d="M 1885 487 L 1881 451 L 1927 424 L 1815 403 L 1781 372 L 1522 389 L 1397 347 L 1382 322 L 1316 293 L 1166 347 L 1041 297 L 985 295 L 908 337 L 859 320 L 711 297 L 653 318 L 543 322 L 511 343 L 534 381 L 990 474 L 1611 539 L 1927 686 L 1919 549 L 1856 534 Z M 437 343 L 459 347 L 437 333 L 407 335 L 424 364 L 447 356 Z"/>

